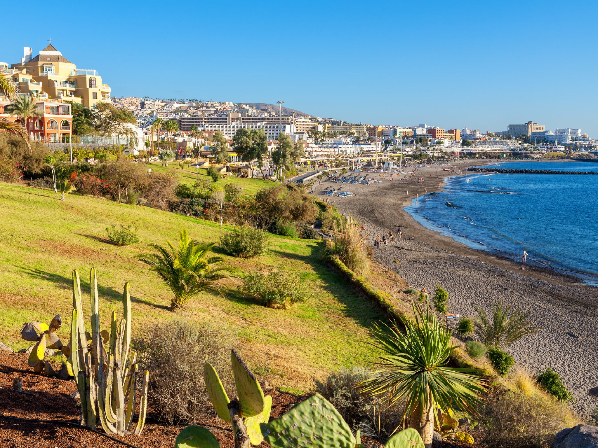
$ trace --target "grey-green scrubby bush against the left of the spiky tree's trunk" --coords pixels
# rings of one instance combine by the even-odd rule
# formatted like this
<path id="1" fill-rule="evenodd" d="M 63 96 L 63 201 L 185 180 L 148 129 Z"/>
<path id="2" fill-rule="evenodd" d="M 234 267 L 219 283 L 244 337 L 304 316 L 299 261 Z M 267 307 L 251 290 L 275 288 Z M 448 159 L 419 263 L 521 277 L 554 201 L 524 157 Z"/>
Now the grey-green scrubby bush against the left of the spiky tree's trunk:
<path id="1" fill-rule="evenodd" d="M 392 406 L 380 403 L 375 397 L 361 395 L 354 387 L 356 383 L 372 377 L 366 367 L 352 367 L 332 373 L 323 381 L 316 381 L 316 392 L 326 398 L 338 410 L 353 432 L 362 436 L 386 440 L 395 428 L 403 424 L 404 401 Z"/>

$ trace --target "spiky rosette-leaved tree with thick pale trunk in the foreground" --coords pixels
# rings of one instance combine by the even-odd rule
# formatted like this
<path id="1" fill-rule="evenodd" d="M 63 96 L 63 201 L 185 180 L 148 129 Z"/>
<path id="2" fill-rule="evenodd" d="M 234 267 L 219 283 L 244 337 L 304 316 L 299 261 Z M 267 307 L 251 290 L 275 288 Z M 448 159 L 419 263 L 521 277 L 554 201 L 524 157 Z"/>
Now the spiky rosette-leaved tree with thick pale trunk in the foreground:
<path id="1" fill-rule="evenodd" d="M 389 404 L 407 398 L 408 425 L 419 432 L 429 448 L 434 434 L 434 409 L 475 413 L 487 384 L 474 374 L 475 369 L 446 366 L 455 348 L 451 331 L 430 312 L 427 303 L 425 312 L 419 305 L 412 306 L 415 318 L 405 319 L 405 333 L 396 329 L 396 324 L 385 329 L 376 326 L 376 345 L 385 352 L 379 357 L 382 370 L 359 383 L 359 388 L 367 395 L 386 395 L 383 400 Z"/>

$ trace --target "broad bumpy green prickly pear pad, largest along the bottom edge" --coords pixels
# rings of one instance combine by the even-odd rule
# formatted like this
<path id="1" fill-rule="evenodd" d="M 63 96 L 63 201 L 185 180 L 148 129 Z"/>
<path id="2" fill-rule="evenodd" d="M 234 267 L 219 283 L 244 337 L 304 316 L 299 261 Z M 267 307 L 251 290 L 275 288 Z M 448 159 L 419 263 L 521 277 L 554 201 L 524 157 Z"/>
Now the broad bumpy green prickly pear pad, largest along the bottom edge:
<path id="1" fill-rule="evenodd" d="M 355 437 L 334 406 L 320 394 L 260 425 L 273 448 L 354 448 Z M 423 448 L 423 445 L 422 445 Z"/>

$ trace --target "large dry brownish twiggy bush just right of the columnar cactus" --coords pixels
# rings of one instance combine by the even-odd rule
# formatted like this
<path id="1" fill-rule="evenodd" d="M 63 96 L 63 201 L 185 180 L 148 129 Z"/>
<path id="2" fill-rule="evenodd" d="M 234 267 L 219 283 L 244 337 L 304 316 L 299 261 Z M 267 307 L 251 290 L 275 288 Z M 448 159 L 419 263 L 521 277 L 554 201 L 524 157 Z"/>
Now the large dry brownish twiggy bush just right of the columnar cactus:
<path id="1" fill-rule="evenodd" d="M 230 349 L 234 333 L 225 327 L 173 320 L 149 327 L 132 345 L 149 370 L 149 406 L 169 425 L 191 424 L 215 413 L 203 381 L 203 365 L 214 366 L 232 397 Z"/>

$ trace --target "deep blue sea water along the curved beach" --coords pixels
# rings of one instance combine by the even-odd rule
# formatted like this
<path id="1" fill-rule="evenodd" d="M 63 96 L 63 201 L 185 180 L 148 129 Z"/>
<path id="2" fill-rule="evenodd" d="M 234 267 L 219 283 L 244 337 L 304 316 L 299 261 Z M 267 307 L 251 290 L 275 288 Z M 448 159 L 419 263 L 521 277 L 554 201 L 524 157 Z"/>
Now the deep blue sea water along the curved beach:
<path id="1" fill-rule="evenodd" d="M 591 162 L 503 162 L 489 168 L 598 171 Z M 417 222 L 469 247 L 598 282 L 598 174 L 465 171 L 406 207 Z M 426 177 L 424 176 L 424 179 Z"/>

